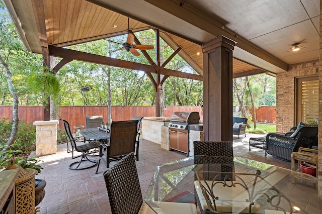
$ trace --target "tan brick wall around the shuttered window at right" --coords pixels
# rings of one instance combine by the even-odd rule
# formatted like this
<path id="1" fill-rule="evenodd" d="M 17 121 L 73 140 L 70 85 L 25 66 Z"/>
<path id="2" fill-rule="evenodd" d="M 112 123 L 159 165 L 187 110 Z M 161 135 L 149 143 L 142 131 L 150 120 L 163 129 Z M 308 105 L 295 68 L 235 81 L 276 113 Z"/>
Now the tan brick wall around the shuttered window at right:
<path id="1" fill-rule="evenodd" d="M 294 124 L 295 78 L 318 74 L 318 62 L 291 65 L 276 76 L 276 132 L 286 132 Z"/>

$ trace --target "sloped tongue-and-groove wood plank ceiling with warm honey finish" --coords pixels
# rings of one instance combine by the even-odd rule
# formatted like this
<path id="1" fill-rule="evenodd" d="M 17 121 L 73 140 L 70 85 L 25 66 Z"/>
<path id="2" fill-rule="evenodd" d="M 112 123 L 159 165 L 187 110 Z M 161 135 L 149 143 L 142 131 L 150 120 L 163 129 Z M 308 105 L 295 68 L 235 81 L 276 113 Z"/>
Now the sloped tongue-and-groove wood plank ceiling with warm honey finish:
<path id="1" fill-rule="evenodd" d="M 37 39 L 34 38 L 37 37 L 35 34 L 35 32 L 37 32 L 37 26 L 33 24 L 33 19 L 35 19 L 35 23 L 39 23 L 40 17 L 34 16 L 35 7 L 37 6 L 31 7 L 32 3 L 35 5 L 32 0 L 18 2 L 15 2 L 14 4 L 14 1 L 5 0 L 11 15 L 13 14 L 13 11 L 17 14 L 18 18 L 13 20 L 19 20 L 19 17 L 24 16 L 27 19 L 27 15 L 29 14 L 29 22 L 26 24 L 21 18 L 19 20 L 20 23 L 18 23 L 18 25 L 21 27 L 22 31 L 25 31 L 20 33 L 20 35 L 25 36 L 25 38 L 22 39 L 25 46 L 30 51 L 42 54 L 41 45 Z M 155 29 L 153 26 L 134 19 L 129 19 L 128 23 L 128 17 L 85 0 L 37 0 L 36 2 L 41 3 L 41 5 L 43 4 L 47 36 L 45 39 L 47 40 L 47 44 L 52 46 L 66 47 L 126 34 L 128 24 L 129 29 L 133 32 Z M 39 9 L 38 6 L 38 10 L 41 11 L 41 7 Z M 20 11 L 24 11 L 24 14 L 19 14 Z M 21 23 L 29 26 L 24 27 Z M 17 27 L 17 23 L 15 23 L 15 25 Z M 168 44 L 172 43 L 171 46 L 175 50 L 176 48 L 181 47 L 182 50 L 178 54 L 200 75 L 203 75 L 203 57 L 200 44 L 196 44 L 166 31 L 162 31 L 160 37 Z M 197 53 L 199 53 L 199 55 Z M 253 74 L 254 71 L 257 73 L 266 72 L 248 63 L 233 59 L 233 73 L 237 74 L 237 76 L 250 75 Z"/>

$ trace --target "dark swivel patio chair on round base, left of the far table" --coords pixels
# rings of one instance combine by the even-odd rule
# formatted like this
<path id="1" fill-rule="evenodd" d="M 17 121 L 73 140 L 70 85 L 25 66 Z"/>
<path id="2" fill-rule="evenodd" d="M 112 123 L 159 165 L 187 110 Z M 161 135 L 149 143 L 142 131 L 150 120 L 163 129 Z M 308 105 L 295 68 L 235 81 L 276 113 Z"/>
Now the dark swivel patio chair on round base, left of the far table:
<path id="1" fill-rule="evenodd" d="M 96 150 L 93 150 L 93 149 L 97 149 L 97 148 L 99 148 L 99 146 L 95 143 L 91 143 L 90 141 L 85 141 L 85 140 L 77 141 L 77 140 L 75 140 L 70 132 L 69 123 L 63 119 L 60 119 L 60 121 L 64 123 L 65 131 L 67 133 L 67 136 L 68 136 L 70 144 L 71 144 L 71 150 L 70 150 L 71 154 L 72 154 L 71 158 L 74 159 L 77 157 L 82 157 L 81 160 L 71 163 L 69 165 L 69 169 L 81 170 L 81 169 L 88 169 L 88 168 L 96 166 L 97 161 L 93 160 L 93 159 L 89 159 L 88 155 L 95 153 Z M 90 151 L 90 150 L 92 150 L 92 151 Z M 74 151 L 81 152 L 82 154 L 78 155 L 78 156 L 74 156 Z M 81 163 L 83 163 L 84 161 L 89 161 L 93 164 L 84 164 L 82 167 L 79 167 L 79 166 L 81 166 Z M 77 166 L 73 167 L 76 164 L 77 164 Z"/>

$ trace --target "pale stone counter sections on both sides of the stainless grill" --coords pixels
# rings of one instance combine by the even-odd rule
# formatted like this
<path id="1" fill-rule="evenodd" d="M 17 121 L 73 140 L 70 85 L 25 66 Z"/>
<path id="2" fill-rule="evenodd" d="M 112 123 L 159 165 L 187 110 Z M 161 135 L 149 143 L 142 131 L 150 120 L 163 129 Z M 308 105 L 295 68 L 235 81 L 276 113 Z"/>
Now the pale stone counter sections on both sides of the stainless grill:
<path id="1" fill-rule="evenodd" d="M 169 150 L 169 128 L 168 123 L 170 118 L 164 117 L 144 117 L 142 119 L 142 138 L 157 144 L 160 144 L 161 148 Z M 166 126 L 165 126 L 166 124 Z M 189 133 L 189 156 L 193 156 L 193 142 L 203 141 L 204 132 L 190 130 Z"/>

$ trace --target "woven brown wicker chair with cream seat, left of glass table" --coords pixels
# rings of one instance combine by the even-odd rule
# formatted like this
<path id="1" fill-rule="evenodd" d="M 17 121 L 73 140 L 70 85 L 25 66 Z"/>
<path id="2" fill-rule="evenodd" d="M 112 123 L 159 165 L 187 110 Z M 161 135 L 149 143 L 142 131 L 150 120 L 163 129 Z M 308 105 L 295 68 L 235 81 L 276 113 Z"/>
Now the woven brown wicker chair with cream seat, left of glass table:
<path id="1" fill-rule="evenodd" d="M 143 210 L 140 209 L 143 200 L 133 152 L 104 172 L 104 180 L 112 214 L 155 213 L 146 203 Z M 154 201 L 154 203 L 165 213 L 197 214 L 197 207 L 193 203 L 167 201 Z"/>

